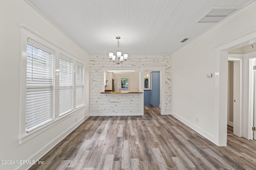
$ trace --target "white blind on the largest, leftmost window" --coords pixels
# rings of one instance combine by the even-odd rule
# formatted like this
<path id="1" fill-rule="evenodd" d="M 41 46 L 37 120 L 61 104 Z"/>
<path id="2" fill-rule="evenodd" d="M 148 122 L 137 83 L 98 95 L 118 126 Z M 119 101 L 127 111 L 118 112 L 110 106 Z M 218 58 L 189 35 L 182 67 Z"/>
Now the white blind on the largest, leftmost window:
<path id="1" fill-rule="evenodd" d="M 26 132 L 54 119 L 53 54 L 38 46 L 27 43 Z"/>

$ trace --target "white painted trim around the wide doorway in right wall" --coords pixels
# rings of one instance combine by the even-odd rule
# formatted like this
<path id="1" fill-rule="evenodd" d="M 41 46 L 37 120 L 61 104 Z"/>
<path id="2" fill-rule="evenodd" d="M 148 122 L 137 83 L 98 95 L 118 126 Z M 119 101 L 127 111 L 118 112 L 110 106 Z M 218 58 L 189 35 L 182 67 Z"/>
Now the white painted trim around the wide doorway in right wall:
<path id="1" fill-rule="evenodd" d="M 218 146 L 226 146 L 226 130 L 224 127 L 227 117 L 227 88 L 226 74 L 228 53 L 232 49 L 236 49 L 251 43 L 256 42 L 256 29 L 248 31 L 215 47 L 215 102 L 214 102 L 214 126 L 217 128 L 214 133 L 214 143 Z M 223 100 L 224 99 L 224 100 Z M 223 119 L 221 119 L 221 117 Z M 250 122 L 248 120 L 250 125 Z"/>

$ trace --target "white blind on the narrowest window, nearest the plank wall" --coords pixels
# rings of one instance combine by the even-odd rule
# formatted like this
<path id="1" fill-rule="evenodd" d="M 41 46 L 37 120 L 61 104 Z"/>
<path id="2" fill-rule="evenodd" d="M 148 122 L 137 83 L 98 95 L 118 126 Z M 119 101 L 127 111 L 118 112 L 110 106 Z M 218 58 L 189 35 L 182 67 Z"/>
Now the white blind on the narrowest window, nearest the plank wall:
<path id="1" fill-rule="evenodd" d="M 84 104 L 84 66 L 76 64 L 76 107 Z"/>

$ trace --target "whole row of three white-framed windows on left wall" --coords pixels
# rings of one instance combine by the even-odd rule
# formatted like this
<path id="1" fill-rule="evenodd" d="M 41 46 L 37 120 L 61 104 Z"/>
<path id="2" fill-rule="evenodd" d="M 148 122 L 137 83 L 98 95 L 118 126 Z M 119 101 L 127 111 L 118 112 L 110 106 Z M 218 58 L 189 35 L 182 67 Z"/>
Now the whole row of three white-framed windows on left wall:
<path id="1" fill-rule="evenodd" d="M 25 25 L 20 27 L 18 139 L 22 144 L 82 111 L 85 63 Z"/>

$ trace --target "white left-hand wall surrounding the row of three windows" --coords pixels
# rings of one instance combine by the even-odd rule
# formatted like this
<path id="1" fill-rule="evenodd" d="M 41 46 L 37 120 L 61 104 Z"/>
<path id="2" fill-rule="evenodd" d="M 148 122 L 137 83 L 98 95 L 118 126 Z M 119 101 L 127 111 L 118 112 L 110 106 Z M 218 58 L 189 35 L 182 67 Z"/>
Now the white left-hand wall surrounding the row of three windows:
<path id="1" fill-rule="evenodd" d="M 89 113 L 89 57 L 78 45 L 59 31 L 23 0 L 0 0 L 0 160 L 37 160 L 70 133 Z M 24 24 L 52 43 L 86 62 L 86 107 L 42 132 L 22 145 L 19 144 L 20 110 L 20 27 Z M 75 118 L 78 122 L 76 123 Z M 0 164 L 0 169 L 27 169 L 30 164 Z"/>

